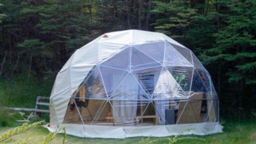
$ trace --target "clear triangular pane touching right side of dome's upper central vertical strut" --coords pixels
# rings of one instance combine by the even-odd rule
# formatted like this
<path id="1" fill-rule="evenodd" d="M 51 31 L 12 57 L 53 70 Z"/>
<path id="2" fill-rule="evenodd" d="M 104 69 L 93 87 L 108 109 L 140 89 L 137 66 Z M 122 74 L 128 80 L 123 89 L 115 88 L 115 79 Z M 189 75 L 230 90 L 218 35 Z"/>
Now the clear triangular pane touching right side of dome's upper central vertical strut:
<path id="1" fill-rule="evenodd" d="M 160 63 L 150 58 L 137 48 L 133 47 L 131 50 L 131 69 L 145 69 L 148 67 L 161 66 Z"/>

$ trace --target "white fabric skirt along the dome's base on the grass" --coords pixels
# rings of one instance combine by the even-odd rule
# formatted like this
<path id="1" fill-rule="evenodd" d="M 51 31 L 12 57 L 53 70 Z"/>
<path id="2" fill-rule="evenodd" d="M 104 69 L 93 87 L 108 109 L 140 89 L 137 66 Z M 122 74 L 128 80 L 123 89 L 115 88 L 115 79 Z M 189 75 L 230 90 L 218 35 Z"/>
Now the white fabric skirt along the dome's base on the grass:
<path id="1" fill-rule="evenodd" d="M 198 124 L 173 124 L 166 126 L 93 126 L 79 124 L 61 124 L 66 126 L 66 134 L 78 137 L 119 138 L 125 137 L 165 137 L 169 135 L 207 135 L 223 132 L 223 126 L 217 122 Z M 51 132 L 56 128 L 48 128 Z M 60 132 L 61 133 L 61 132 Z"/>

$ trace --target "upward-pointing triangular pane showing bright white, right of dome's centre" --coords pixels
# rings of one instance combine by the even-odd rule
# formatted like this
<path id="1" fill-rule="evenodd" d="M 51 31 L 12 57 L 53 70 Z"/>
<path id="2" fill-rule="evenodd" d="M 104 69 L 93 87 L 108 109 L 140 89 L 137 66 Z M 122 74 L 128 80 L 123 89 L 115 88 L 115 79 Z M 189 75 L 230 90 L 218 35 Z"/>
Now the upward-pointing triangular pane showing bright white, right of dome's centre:
<path id="1" fill-rule="evenodd" d="M 154 90 L 154 99 L 184 98 L 181 86 L 164 67 Z"/>

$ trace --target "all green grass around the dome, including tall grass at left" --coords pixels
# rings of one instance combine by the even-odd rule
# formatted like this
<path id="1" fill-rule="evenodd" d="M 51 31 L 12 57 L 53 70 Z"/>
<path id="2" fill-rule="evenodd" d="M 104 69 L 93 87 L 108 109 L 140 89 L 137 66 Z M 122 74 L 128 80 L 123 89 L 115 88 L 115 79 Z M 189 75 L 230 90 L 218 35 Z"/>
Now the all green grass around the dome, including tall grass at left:
<path id="1" fill-rule="evenodd" d="M 13 81 L 1 81 L 0 79 L 0 106 L 6 107 L 35 107 L 35 99 L 37 95 L 49 96 L 53 82 L 44 82 L 37 84 L 35 80 L 31 79 L 30 84 L 26 82 L 26 77 L 14 79 Z M 18 95 L 17 95 L 18 94 Z M 13 113 L 13 112 L 12 112 Z M 0 135 L 11 130 L 14 126 L 18 126 L 16 120 L 22 117 L 15 115 L 8 116 L 0 111 Z M 46 115 L 43 117 L 49 121 Z M 251 120 L 252 121 L 252 120 Z M 212 134 L 205 136 L 185 135 L 180 137 L 198 137 L 205 139 L 200 141 L 198 139 L 181 139 L 177 143 L 249 143 L 256 144 L 256 120 L 253 122 L 223 122 L 224 133 Z M 5 126 L 5 127 L 1 127 Z M 8 127 L 11 126 L 11 127 Z M 22 134 L 14 135 L 2 143 L 22 143 L 28 139 L 28 143 L 41 143 L 43 139 L 49 134 L 49 131 L 42 126 L 37 126 L 24 132 Z M 139 143 L 142 139 L 147 137 L 132 137 L 127 139 L 96 139 L 96 138 L 81 138 L 71 135 L 67 136 L 67 143 Z M 63 135 L 58 134 L 51 143 L 62 143 Z M 150 137 L 150 139 L 161 139 L 159 137 Z M 168 141 L 158 141 L 158 143 L 167 143 Z M 0 142 L 1 143 L 1 142 Z"/>

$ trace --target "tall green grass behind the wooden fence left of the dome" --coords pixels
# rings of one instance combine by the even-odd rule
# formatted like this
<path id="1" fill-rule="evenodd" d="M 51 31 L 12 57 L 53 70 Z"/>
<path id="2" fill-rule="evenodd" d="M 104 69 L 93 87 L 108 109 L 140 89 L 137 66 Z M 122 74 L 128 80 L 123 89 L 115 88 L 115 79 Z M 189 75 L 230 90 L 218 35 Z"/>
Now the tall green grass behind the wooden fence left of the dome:
<path id="1" fill-rule="evenodd" d="M 42 81 L 42 80 L 41 80 Z M 0 106 L 34 108 L 37 96 L 50 96 L 53 79 L 43 82 L 21 74 L 10 81 L 0 77 Z"/>

